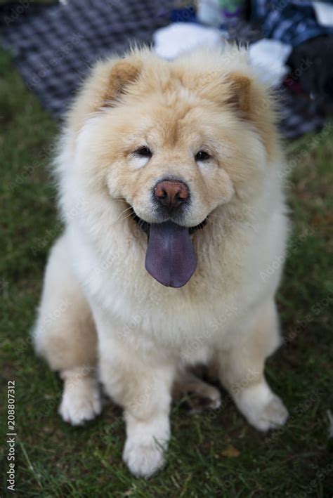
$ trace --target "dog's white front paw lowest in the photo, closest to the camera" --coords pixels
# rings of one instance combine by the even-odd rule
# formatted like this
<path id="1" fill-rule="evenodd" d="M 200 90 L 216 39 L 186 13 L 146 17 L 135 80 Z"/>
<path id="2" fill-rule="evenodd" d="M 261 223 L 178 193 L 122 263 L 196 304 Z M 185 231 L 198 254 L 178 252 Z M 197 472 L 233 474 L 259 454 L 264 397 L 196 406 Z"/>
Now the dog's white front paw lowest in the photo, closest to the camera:
<path id="1" fill-rule="evenodd" d="M 133 476 L 148 479 L 164 466 L 164 448 L 155 440 L 140 443 L 127 439 L 123 459 Z"/>

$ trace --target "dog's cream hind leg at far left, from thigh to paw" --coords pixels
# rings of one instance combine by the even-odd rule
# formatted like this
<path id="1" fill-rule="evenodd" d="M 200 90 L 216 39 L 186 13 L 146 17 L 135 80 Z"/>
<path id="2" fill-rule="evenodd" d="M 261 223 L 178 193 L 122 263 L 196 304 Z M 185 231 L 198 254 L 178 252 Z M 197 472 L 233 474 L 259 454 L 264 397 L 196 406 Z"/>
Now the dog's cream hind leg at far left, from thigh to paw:
<path id="1" fill-rule="evenodd" d="M 59 412 L 74 425 L 100 413 L 96 379 L 96 330 L 61 237 L 48 259 L 34 346 L 64 380 Z"/>

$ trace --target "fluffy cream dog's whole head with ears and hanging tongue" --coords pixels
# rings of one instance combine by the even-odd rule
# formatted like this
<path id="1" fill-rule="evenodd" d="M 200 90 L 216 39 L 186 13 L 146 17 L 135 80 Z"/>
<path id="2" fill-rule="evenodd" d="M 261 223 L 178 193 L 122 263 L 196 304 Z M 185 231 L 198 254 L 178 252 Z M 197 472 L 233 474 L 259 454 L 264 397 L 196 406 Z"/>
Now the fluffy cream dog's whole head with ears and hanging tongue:
<path id="1" fill-rule="evenodd" d="M 190 235 L 217 207 L 258 193 L 275 149 L 267 92 L 236 50 L 100 63 L 70 129 L 87 183 L 126 202 L 149 235 L 146 268 L 172 287 L 195 270 Z"/>

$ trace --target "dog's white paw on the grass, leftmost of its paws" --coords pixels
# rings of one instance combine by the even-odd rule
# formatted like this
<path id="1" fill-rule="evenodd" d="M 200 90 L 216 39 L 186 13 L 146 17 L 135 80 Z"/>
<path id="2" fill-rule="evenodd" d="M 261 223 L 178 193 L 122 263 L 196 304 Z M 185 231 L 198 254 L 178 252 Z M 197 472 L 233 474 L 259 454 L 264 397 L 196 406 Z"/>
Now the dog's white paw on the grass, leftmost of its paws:
<path id="1" fill-rule="evenodd" d="M 95 381 L 79 379 L 74 384 L 66 384 L 59 414 L 65 422 L 73 426 L 81 426 L 92 420 L 102 410 L 100 392 Z"/>

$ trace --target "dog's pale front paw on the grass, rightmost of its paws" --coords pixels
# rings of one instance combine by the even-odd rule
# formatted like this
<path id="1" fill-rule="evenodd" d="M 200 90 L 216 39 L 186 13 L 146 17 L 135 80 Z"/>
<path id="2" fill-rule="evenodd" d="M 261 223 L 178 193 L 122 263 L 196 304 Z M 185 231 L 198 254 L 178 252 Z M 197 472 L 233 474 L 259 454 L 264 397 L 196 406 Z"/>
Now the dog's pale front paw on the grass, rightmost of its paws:
<path id="1" fill-rule="evenodd" d="M 249 424 L 258 431 L 279 428 L 288 418 L 287 408 L 280 398 L 266 386 L 249 388 L 243 393 L 237 405 Z"/>

